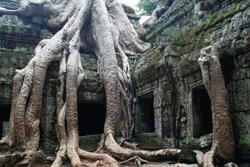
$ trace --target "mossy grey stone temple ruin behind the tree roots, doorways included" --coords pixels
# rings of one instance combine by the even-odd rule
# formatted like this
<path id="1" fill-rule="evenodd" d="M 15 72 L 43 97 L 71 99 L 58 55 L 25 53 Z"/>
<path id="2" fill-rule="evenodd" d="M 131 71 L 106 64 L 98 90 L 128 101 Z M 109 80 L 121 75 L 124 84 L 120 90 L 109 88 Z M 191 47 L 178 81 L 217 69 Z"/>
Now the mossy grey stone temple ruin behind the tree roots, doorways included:
<path id="1" fill-rule="evenodd" d="M 18 5 L 18 0 L 0 1 L 0 7 L 16 9 Z M 250 2 L 174 0 L 143 27 L 133 10 L 124 9 L 141 38 L 151 43 L 144 53 L 129 57 L 134 84 L 134 130 L 129 141 L 148 150 L 211 147 L 211 99 L 197 60 L 202 48 L 221 41 L 220 63 L 229 95 L 235 162 L 250 165 Z M 28 64 L 41 39 L 52 36 L 41 19 L 33 17 L 30 22 L 13 15 L 0 17 L 0 139 L 8 133 L 15 70 Z M 86 77 L 78 91 L 80 147 L 93 151 L 103 133 L 105 93 L 99 90 L 96 56 L 82 53 L 81 62 Z M 46 155 L 53 155 L 58 146 L 58 70 L 58 62 L 49 66 L 43 92 L 39 147 Z M 0 148 L 0 161 L 3 152 Z"/>

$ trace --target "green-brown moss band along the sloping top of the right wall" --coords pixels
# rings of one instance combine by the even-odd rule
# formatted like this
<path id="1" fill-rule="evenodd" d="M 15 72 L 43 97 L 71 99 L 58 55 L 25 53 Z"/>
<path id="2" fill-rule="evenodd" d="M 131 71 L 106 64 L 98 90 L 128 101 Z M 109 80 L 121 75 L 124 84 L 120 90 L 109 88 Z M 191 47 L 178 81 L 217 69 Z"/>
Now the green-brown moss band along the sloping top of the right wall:
<path id="1" fill-rule="evenodd" d="M 178 72 L 185 74 L 198 68 L 199 52 L 210 44 L 211 35 L 228 24 L 230 22 L 228 18 L 245 8 L 241 8 L 240 3 L 233 3 L 226 12 L 209 15 L 200 26 L 190 26 L 178 38 L 173 38 L 173 49 L 178 55 L 182 55 L 176 64 Z"/>

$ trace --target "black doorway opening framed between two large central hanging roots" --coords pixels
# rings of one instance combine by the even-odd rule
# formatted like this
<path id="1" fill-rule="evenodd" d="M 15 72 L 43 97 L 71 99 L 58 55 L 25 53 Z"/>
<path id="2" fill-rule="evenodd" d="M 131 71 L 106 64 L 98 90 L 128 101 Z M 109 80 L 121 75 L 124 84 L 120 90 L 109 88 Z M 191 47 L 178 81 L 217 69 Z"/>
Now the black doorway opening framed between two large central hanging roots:
<path id="1" fill-rule="evenodd" d="M 78 129 L 80 136 L 103 133 L 106 107 L 104 104 L 78 104 Z"/>

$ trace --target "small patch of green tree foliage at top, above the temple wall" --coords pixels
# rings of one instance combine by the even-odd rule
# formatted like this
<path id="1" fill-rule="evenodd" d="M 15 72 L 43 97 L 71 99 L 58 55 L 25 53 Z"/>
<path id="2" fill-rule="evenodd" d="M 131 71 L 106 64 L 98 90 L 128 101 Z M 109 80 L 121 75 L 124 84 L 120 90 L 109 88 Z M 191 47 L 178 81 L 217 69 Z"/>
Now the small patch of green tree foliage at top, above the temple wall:
<path id="1" fill-rule="evenodd" d="M 164 0 L 140 0 L 138 7 L 144 15 L 151 15 L 159 5 L 163 5 Z"/>

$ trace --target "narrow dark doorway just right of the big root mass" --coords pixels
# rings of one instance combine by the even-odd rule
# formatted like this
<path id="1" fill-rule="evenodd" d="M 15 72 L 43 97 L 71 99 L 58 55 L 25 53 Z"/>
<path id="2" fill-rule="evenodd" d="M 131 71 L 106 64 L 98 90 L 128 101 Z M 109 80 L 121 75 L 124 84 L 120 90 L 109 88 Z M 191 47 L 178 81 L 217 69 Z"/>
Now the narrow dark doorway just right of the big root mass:
<path id="1" fill-rule="evenodd" d="M 155 132 L 154 98 L 146 96 L 139 98 L 139 112 L 137 113 L 137 132 Z"/>

